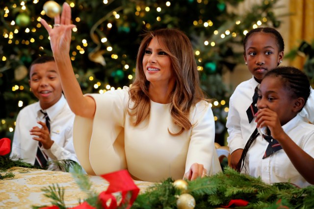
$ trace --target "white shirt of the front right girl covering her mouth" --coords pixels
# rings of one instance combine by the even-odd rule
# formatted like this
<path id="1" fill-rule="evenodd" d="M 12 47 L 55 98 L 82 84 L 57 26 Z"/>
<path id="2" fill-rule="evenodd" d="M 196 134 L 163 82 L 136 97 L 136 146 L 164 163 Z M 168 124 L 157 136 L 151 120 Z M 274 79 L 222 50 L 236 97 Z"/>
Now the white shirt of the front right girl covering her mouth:
<path id="1" fill-rule="evenodd" d="M 286 134 L 306 153 L 314 157 L 314 125 L 303 121 L 299 115 L 282 126 Z M 246 170 L 242 172 L 261 177 L 268 184 L 290 182 L 300 187 L 311 185 L 296 170 L 285 150 L 281 149 L 262 159 L 268 142 L 259 136 L 252 143 L 246 155 Z M 306 163 L 306 162 L 304 162 Z"/>

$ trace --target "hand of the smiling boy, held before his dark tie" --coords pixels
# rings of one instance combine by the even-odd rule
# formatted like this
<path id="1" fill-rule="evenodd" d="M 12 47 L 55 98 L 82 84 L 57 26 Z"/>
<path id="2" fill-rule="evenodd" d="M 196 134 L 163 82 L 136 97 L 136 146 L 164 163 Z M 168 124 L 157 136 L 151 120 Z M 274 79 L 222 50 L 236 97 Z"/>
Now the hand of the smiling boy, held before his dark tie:
<path id="1" fill-rule="evenodd" d="M 30 135 L 37 136 L 37 137 L 33 137 L 32 139 L 36 141 L 40 141 L 45 149 L 50 149 L 54 141 L 50 138 L 50 133 L 47 128 L 47 125 L 46 123 L 41 122 L 41 121 L 38 121 L 37 123 L 40 124 L 42 128 L 39 128 L 38 126 L 34 126 L 29 131 Z"/>

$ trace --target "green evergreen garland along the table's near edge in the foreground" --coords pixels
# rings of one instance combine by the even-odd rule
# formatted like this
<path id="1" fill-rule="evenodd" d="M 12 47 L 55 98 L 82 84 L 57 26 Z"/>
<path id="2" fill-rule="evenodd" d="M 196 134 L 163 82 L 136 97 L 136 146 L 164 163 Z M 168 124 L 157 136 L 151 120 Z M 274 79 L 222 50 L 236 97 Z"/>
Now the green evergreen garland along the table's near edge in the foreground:
<path id="1" fill-rule="evenodd" d="M 91 183 L 87 175 L 76 166 L 73 174 L 78 186 L 86 192 L 86 201 L 90 206 L 101 209 L 98 194 L 91 190 Z M 145 193 L 138 195 L 132 209 L 176 209 L 177 198 L 182 190 L 174 186 L 174 180 L 168 178 L 160 184 L 147 188 Z M 228 205 L 230 200 L 242 199 L 249 202 L 241 209 L 313 209 L 314 186 L 299 188 L 290 183 L 266 184 L 261 178 L 243 175 L 230 167 L 210 177 L 187 181 L 186 193 L 191 194 L 195 201 L 195 209 L 215 209 Z M 58 185 L 42 189 L 46 197 L 52 199 L 52 205 L 66 209 L 63 194 L 64 188 Z M 83 201 L 79 201 L 81 204 Z M 43 207 L 43 206 L 41 206 Z M 41 207 L 33 207 L 38 209 Z M 123 207 L 121 207 L 123 208 Z"/>

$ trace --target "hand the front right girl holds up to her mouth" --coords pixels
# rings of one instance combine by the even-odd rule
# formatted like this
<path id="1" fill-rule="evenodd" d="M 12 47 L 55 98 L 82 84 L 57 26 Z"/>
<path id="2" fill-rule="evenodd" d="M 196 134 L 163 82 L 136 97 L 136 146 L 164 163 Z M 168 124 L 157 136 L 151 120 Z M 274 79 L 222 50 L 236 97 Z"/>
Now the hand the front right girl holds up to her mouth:
<path id="1" fill-rule="evenodd" d="M 283 135 L 286 135 L 281 127 L 279 117 L 276 112 L 263 108 L 256 114 L 257 127 L 268 127 L 271 136 L 280 142 L 280 139 L 284 139 Z"/>

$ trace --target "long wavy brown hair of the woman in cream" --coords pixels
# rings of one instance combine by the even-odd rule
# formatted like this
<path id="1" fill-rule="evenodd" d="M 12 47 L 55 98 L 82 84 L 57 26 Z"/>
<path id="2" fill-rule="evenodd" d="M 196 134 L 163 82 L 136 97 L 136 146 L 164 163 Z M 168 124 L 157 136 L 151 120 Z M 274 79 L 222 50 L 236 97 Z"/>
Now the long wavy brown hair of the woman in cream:
<path id="1" fill-rule="evenodd" d="M 199 73 L 192 44 L 188 37 L 178 29 L 159 29 L 147 32 L 144 36 L 137 53 L 135 80 L 129 92 L 130 100 L 134 102 L 134 106 L 131 108 L 128 105 L 127 112 L 130 116 L 135 116 L 131 122 L 134 126 L 150 115 L 148 94 L 150 82 L 144 74 L 142 61 L 145 49 L 153 38 L 156 38 L 165 47 L 163 50 L 171 59 L 172 70 L 176 77 L 176 83 L 170 95 L 170 114 L 174 123 L 182 129 L 178 133 L 171 133 L 169 129 L 168 132 L 177 136 L 192 127 L 188 118 L 191 106 L 202 99 L 206 100 L 200 88 Z"/>

